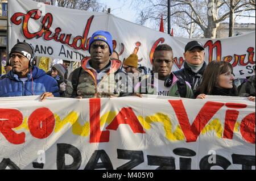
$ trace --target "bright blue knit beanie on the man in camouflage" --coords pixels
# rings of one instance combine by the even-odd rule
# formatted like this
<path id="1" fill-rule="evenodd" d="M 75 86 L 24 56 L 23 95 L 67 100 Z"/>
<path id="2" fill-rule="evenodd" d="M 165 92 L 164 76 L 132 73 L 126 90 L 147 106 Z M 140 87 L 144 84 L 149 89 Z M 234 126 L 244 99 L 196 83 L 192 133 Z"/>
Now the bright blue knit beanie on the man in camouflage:
<path id="1" fill-rule="evenodd" d="M 97 40 L 105 41 L 106 44 L 109 45 L 109 52 L 110 55 L 113 52 L 113 43 L 112 43 L 112 35 L 108 31 L 96 31 L 92 34 L 92 37 L 90 38 L 89 41 L 89 53 L 90 53 L 90 45 Z"/>

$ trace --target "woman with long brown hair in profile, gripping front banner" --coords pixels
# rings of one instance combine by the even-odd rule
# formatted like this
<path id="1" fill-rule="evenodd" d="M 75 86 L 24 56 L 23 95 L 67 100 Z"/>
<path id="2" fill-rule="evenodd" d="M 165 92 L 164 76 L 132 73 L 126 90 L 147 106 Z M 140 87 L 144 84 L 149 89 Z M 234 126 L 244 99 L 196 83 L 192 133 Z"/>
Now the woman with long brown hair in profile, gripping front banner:
<path id="1" fill-rule="evenodd" d="M 233 67 L 229 62 L 212 61 L 207 65 L 203 74 L 203 81 L 195 92 L 197 99 L 204 99 L 206 95 L 238 96 L 234 85 Z M 249 96 L 255 101 L 255 96 Z"/>

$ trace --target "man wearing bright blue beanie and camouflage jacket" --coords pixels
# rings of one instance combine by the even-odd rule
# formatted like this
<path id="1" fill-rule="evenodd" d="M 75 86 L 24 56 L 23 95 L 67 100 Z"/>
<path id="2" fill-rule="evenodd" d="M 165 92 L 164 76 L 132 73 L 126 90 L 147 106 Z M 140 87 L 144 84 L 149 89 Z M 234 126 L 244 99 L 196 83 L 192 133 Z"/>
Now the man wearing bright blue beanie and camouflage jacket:
<path id="1" fill-rule="evenodd" d="M 112 40 L 112 35 L 107 31 L 100 30 L 92 34 L 88 49 L 90 59 L 83 58 L 81 67 L 69 75 L 66 97 L 109 98 L 130 95 L 127 94 L 126 74 L 120 69 L 122 62 L 110 59 Z"/>

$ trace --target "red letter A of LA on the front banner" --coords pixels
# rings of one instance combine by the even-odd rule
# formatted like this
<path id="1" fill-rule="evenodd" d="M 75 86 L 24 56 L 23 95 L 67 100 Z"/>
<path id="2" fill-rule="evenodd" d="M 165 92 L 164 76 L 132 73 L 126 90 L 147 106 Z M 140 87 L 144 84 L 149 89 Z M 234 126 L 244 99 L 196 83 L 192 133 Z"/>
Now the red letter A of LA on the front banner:
<path id="1" fill-rule="evenodd" d="M 145 133 L 141 123 L 139 123 L 137 116 L 133 112 L 133 109 L 130 107 L 122 108 L 106 129 L 117 130 L 119 124 L 129 124 L 134 133 Z"/>

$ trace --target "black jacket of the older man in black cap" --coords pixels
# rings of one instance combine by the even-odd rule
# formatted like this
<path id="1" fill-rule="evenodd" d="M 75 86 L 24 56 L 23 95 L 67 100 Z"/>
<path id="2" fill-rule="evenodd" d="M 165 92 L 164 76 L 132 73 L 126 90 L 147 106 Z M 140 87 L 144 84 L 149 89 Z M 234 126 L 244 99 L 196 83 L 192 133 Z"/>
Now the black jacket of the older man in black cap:
<path id="1" fill-rule="evenodd" d="M 188 66 L 187 62 L 184 63 L 184 68 L 177 70 L 174 72 L 174 74 L 176 75 L 176 77 L 178 79 L 183 79 L 184 81 L 189 82 L 189 84 L 191 85 L 191 89 L 193 92 L 196 91 L 196 88 L 200 85 L 200 83 L 202 82 L 203 79 L 203 73 L 204 70 L 206 68 L 207 64 L 204 61 L 203 66 L 201 67 L 201 69 L 195 73 L 191 70 L 191 68 Z"/>

